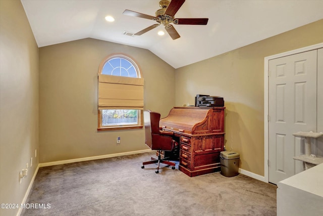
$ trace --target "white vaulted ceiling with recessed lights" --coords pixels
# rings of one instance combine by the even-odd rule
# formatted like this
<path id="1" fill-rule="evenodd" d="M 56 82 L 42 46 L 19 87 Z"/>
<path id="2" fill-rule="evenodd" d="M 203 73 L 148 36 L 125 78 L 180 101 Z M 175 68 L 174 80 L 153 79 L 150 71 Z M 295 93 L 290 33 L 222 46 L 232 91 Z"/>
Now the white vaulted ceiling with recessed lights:
<path id="1" fill-rule="evenodd" d="M 173 0 L 176 1 L 176 0 Z M 123 15 L 128 9 L 155 16 L 159 0 L 21 0 L 38 47 L 96 38 L 150 50 L 174 68 L 189 65 L 323 19 L 322 0 L 186 0 L 175 18 L 208 18 L 207 25 L 174 25 L 173 40 L 156 21 Z M 115 18 L 105 21 L 105 16 Z M 261 49 L 261 48 L 259 48 Z"/>

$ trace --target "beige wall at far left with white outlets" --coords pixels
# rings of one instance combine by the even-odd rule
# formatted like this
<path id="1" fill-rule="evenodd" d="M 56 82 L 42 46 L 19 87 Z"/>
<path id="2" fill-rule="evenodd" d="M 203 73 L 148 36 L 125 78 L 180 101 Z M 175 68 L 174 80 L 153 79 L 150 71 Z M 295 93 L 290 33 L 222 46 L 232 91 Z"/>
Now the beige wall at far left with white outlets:
<path id="1" fill-rule="evenodd" d="M 0 1 L 0 51 L 0 203 L 22 203 L 38 166 L 39 73 L 38 47 L 20 1 Z M 19 184 L 26 163 L 28 176 Z M 0 209 L 0 215 L 17 212 Z"/>

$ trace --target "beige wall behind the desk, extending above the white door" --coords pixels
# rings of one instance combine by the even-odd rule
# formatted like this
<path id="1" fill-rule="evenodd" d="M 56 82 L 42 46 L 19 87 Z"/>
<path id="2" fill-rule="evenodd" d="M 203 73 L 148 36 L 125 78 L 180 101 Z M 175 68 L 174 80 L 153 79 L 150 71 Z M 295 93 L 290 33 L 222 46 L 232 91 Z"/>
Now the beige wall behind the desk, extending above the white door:
<path id="1" fill-rule="evenodd" d="M 227 150 L 240 167 L 264 176 L 264 57 L 323 42 L 323 20 L 176 70 L 176 106 L 196 94 L 222 96 Z"/>

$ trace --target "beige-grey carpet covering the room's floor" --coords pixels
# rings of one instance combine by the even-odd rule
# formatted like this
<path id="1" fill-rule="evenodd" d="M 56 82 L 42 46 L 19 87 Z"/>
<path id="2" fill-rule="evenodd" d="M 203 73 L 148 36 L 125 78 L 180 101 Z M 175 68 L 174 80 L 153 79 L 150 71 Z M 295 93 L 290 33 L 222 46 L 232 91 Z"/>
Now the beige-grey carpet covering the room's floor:
<path id="1" fill-rule="evenodd" d="M 21 215 L 276 215 L 272 184 L 220 172 L 188 177 L 152 153 L 41 167 Z M 164 165 L 161 165 L 164 166 Z"/>

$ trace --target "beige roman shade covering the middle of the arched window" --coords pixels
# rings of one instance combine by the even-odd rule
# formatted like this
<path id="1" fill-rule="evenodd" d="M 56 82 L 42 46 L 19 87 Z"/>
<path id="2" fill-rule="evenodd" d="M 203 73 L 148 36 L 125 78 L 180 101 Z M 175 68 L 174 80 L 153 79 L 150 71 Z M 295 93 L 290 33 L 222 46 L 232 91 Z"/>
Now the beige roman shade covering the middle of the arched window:
<path id="1" fill-rule="evenodd" d="M 143 109 L 143 78 L 98 76 L 98 109 Z"/>

